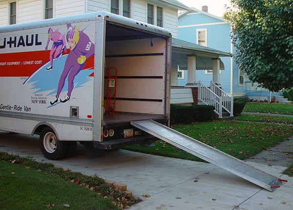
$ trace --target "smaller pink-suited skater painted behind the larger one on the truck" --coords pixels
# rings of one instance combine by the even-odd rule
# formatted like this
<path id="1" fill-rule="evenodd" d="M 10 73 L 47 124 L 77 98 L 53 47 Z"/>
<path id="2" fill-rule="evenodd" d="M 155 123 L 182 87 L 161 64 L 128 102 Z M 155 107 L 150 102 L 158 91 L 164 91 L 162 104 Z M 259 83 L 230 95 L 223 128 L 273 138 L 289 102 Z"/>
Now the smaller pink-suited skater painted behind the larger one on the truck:
<path id="1" fill-rule="evenodd" d="M 52 41 L 53 44 L 50 50 L 50 67 L 48 67 L 47 70 L 52 70 L 53 59 L 59 58 L 63 51 L 66 51 L 65 35 L 61 34 L 58 29 L 56 31 L 53 31 L 52 28 L 48 29 L 48 40 L 45 47 L 46 51 L 50 41 Z"/>

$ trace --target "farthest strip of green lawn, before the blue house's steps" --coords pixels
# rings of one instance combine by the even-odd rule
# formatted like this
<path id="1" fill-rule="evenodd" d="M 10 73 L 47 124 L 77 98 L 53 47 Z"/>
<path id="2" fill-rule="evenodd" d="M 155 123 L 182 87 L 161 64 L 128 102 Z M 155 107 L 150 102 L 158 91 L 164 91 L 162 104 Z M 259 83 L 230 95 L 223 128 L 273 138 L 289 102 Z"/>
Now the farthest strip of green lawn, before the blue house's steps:
<path id="1" fill-rule="evenodd" d="M 293 103 L 246 103 L 243 112 L 293 115 Z"/>

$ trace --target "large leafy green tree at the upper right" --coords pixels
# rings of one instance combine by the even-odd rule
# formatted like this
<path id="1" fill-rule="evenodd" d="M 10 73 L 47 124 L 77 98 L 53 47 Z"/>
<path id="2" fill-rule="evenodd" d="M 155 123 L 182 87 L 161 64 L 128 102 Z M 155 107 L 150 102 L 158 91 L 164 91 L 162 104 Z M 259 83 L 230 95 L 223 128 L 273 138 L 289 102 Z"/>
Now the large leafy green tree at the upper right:
<path id="1" fill-rule="evenodd" d="M 293 0 L 231 0 L 235 62 L 270 91 L 293 87 Z"/>

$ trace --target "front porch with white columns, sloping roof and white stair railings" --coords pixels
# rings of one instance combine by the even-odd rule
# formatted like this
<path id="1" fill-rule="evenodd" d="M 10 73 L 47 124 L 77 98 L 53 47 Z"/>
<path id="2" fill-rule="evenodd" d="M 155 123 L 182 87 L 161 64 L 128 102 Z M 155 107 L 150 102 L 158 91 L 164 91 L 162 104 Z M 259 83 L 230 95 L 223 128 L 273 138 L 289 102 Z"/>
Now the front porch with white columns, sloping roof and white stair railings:
<path id="1" fill-rule="evenodd" d="M 198 103 L 212 105 L 219 118 L 227 112 L 233 116 L 233 98 L 221 89 L 220 70 L 224 64 L 220 56 L 230 57 L 230 53 L 203 47 L 183 40 L 172 39 L 171 65 L 171 104 Z M 185 87 L 177 87 L 177 70 L 188 70 L 188 82 Z M 196 70 L 212 72 L 210 87 L 196 81 Z"/>

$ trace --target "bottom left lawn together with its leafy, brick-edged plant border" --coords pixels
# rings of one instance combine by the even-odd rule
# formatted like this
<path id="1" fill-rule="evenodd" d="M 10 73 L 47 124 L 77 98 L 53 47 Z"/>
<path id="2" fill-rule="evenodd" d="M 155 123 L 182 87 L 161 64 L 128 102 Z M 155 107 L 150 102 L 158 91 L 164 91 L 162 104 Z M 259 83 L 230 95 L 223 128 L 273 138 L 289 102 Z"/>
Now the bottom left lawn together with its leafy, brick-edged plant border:
<path id="1" fill-rule="evenodd" d="M 0 209 L 124 209 L 140 202 L 102 178 L 0 152 Z"/>

